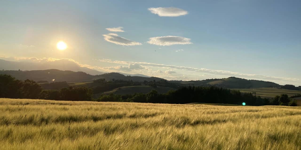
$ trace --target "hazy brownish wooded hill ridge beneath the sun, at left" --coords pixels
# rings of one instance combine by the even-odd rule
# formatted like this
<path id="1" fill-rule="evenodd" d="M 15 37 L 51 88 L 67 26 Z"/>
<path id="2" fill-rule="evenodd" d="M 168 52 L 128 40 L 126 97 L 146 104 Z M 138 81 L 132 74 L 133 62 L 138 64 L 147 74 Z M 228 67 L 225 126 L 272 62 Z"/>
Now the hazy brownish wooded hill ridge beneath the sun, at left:
<path id="1" fill-rule="evenodd" d="M 32 70 L 32 71 L 17 71 L 17 70 L 0 70 L 0 74 L 8 74 L 19 80 L 34 80 L 34 81 L 48 81 L 48 82 L 92 82 L 95 79 L 105 79 L 110 81 L 112 79 L 118 80 L 132 80 L 132 81 L 160 81 L 164 80 L 157 77 L 142 77 L 142 76 L 124 76 L 120 73 L 105 73 L 102 75 L 90 75 L 85 72 L 62 71 L 57 69 L 49 70 Z"/>

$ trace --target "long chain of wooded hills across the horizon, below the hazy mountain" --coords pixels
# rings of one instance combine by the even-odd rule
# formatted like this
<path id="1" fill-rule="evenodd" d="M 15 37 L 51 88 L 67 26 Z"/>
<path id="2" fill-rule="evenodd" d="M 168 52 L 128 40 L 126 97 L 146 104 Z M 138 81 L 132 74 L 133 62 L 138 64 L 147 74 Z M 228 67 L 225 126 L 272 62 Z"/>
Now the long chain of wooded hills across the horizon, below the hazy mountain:
<path id="1" fill-rule="evenodd" d="M 158 77 L 143 77 L 143 76 L 125 76 L 121 73 L 104 73 L 101 75 L 91 75 L 85 72 L 62 71 L 57 69 L 49 70 L 32 70 L 32 71 L 17 71 L 17 70 L 0 70 L 0 74 L 9 74 L 16 79 L 25 80 L 32 79 L 34 81 L 48 82 L 92 82 L 96 79 L 105 79 L 106 81 L 115 80 L 132 80 L 143 82 L 145 81 L 160 81 L 166 80 Z M 167 81 L 167 80 L 166 80 Z M 170 84 L 180 86 L 217 86 L 223 88 L 281 88 L 281 85 L 260 80 L 248 80 L 237 77 L 229 77 L 223 79 L 206 79 L 200 81 L 167 81 Z M 167 86 L 167 85 L 166 85 Z"/>

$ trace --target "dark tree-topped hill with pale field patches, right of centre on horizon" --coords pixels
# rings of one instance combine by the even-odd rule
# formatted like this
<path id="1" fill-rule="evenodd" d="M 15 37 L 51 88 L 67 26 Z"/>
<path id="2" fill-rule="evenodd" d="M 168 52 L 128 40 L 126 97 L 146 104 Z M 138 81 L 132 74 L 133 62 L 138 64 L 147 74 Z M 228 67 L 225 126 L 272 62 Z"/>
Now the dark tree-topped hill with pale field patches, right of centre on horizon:
<path id="1" fill-rule="evenodd" d="M 229 77 L 223 79 L 206 79 L 201 81 L 187 81 L 182 84 L 192 86 L 218 86 L 223 88 L 267 88 L 280 87 L 279 84 L 260 80 L 247 80 L 236 77 Z"/>

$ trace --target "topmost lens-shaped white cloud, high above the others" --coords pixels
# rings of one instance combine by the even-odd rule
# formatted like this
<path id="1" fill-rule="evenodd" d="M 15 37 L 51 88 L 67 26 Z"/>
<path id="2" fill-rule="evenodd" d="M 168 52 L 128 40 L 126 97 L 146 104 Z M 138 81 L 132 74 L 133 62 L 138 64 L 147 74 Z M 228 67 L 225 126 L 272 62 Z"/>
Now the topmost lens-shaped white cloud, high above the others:
<path id="1" fill-rule="evenodd" d="M 158 16 L 166 17 L 177 17 L 188 14 L 188 11 L 181 8 L 175 7 L 157 7 L 157 8 L 148 8 L 151 13 L 157 14 Z"/>

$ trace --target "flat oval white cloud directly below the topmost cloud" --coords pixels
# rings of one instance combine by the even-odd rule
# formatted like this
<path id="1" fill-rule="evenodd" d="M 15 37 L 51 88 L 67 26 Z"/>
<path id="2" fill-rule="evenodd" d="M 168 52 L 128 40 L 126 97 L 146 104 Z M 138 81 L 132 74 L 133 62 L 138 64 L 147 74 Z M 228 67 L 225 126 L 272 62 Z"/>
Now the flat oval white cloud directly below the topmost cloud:
<path id="1" fill-rule="evenodd" d="M 149 38 L 148 44 L 170 46 L 175 44 L 192 44 L 190 38 L 178 37 L 178 36 L 163 36 L 163 37 L 153 37 Z"/>

